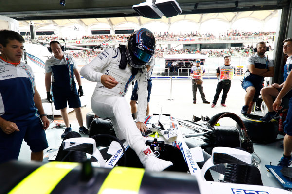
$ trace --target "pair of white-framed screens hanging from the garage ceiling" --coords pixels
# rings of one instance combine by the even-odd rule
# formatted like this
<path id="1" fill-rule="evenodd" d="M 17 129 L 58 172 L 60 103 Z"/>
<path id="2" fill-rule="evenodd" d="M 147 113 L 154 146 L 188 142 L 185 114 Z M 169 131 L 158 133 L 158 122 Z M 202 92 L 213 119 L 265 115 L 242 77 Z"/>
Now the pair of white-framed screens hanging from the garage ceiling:
<path id="1" fill-rule="evenodd" d="M 143 17 L 160 19 L 172 17 L 182 13 L 176 0 L 146 0 L 144 3 L 133 5 L 133 9 Z"/>

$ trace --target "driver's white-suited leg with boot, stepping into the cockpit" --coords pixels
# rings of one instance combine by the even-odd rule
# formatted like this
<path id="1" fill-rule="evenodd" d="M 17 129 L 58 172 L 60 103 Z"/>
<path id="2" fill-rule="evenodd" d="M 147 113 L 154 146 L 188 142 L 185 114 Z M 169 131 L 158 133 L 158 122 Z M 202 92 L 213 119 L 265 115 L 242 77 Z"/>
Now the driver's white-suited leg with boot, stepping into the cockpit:
<path id="1" fill-rule="evenodd" d="M 117 138 L 127 140 L 129 146 L 139 156 L 146 170 L 162 171 L 172 165 L 172 162 L 155 157 L 149 146 L 146 146 L 140 130 L 134 123 L 128 103 L 124 97 L 93 95 L 91 107 L 97 116 L 110 117 Z"/>

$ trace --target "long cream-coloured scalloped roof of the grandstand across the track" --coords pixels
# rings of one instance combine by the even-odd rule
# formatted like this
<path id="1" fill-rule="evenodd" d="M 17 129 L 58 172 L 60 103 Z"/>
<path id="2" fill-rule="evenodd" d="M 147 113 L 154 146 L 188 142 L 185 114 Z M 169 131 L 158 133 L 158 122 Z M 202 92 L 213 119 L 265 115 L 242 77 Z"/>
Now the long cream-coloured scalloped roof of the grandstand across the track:
<path id="1" fill-rule="evenodd" d="M 58 26 L 72 26 L 79 24 L 87 29 L 96 24 L 105 23 L 114 28 L 119 24 L 134 23 L 139 26 L 143 26 L 146 23 L 153 21 L 164 22 L 165 24 L 173 24 L 178 21 L 191 21 L 201 24 L 211 19 L 219 19 L 227 23 L 232 24 L 234 21 L 242 18 L 253 18 L 266 22 L 267 20 L 277 17 L 278 10 L 261 10 L 261 11 L 245 11 L 245 12 L 225 12 L 225 13 L 208 13 L 208 14 L 184 14 L 171 18 L 163 16 L 162 19 L 149 19 L 141 16 L 134 17 L 111 17 L 111 18 L 84 18 L 84 19 L 53 19 L 53 20 L 35 20 L 36 28 L 44 25 L 58 25 Z M 21 26 L 28 26 L 30 21 L 19 21 Z"/>

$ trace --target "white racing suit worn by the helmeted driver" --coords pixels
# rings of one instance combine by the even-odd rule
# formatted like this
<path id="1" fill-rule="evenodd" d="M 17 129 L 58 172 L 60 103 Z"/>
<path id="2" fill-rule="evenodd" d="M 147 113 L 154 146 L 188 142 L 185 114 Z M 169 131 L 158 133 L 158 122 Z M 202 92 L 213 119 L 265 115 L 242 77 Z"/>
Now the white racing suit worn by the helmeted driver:
<path id="1" fill-rule="evenodd" d="M 98 55 L 88 65 L 82 67 L 80 73 L 87 80 L 97 82 L 91 97 L 92 111 L 99 117 L 109 117 L 111 119 L 117 138 L 126 139 L 129 146 L 136 152 L 144 166 L 147 167 L 147 165 L 150 165 L 150 162 L 148 162 L 148 164 L 146 162 L 145 164 L 145 159 L 141 157 L 141 150 L 146 150 L 145 141 L 140 130 L 134 123 L 129 105 L 124 98 L 128 86 L 136 79 L 138 82 L 139 102 L 137 122 L 140 121 L 144 123 L 148 95 L 147 69 L 146 66 L 144 66 L 139 69 L 137 75 L 133 76 L 131 72 L 132 67 L 128 63 L 126 69 L 119 68 L 120 59 L 121 52 L 119 49 L 109 48 Z M 104 74 L 111 75 L 119 83 L 112 89 L 104 87 L 101 83 L 101 76 Z M 143 152 L 146 154 L 145 151 Z M 154 163 L 163 161 L 160 159 L 158 160 L 154 160 Z M 167 161 L 164 161 L 164 163 L 165 162 Z M 170 165 L 172 165 L 171 162 Z M 168 166 L 165 167 L 164 165 L 161 170 Z M 153 169 L 152 166 L 148 169 L 156 170 Z"/>

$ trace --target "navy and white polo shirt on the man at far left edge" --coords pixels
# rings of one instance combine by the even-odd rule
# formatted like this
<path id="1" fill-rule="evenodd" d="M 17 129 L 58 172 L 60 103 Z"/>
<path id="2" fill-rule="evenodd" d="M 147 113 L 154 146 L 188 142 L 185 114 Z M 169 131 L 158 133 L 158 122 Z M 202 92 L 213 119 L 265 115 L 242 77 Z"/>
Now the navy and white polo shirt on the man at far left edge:
<path id="1" fill-rule="evenodd" d="M 34 86 L 35 77 L 29 65 L 21 62 L 14 66 L 0 58 L 0 116 L 21 123 L 38 117 Z"/>

